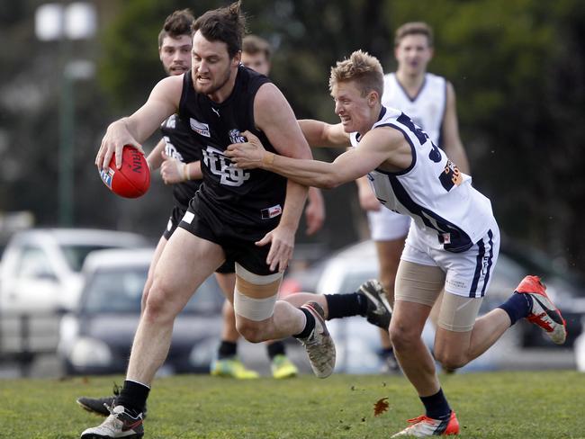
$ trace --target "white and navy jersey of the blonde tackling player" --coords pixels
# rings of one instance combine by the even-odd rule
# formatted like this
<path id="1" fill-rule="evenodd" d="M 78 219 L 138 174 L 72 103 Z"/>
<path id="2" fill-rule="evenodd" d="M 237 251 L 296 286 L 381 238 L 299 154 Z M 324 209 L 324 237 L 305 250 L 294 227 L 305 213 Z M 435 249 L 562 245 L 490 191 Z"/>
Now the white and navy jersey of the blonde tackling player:
<path id="1" fill-rule="evenodd" d="M 368 180 L 382 204 L 414 220 L 428 246 L 463 252 L 480 240 L 493 225 L 491 202 L 472 187 L 472 177 L 454 166 L 428 134 L 405 113 L 383 107 L 372 130 L 392 127 L 410 143 L 412 163 L 401 172 L 380 169 Z M 352 133 L 359 148 L 359 135 Z"/>

